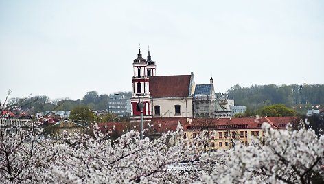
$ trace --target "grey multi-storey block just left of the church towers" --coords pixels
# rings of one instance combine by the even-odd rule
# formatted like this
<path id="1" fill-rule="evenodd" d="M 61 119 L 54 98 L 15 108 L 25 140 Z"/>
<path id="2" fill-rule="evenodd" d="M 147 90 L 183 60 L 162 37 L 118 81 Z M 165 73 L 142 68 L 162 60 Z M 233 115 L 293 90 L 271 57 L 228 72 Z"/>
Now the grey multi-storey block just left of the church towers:
<path id="1" fill-rule="evenodd" d="M 130 115 L 130 99 L 118 93 L 109 95 L 108 112 L 121 117 Z"/>

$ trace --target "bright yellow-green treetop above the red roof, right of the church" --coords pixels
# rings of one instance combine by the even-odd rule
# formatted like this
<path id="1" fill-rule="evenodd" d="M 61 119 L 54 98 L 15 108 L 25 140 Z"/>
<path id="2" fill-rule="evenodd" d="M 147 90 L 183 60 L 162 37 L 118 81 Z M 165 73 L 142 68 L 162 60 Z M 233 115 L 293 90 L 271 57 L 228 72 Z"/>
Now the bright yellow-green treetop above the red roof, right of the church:
<path id="1" fill-rule="evenodd" d="M 292 108 L 288 108 L 283 104 L 275 104 L 272 106 L 265 106 L 257 110 L 257 115 L 260 116 L 294 116 L 296 112 Z"/>

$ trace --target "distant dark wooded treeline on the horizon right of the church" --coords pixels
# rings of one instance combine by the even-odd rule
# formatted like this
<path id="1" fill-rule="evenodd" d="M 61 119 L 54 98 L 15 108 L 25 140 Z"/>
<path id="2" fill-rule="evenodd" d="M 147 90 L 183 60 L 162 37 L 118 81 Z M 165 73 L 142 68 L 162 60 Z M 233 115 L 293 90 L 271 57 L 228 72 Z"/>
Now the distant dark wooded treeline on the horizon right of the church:
<path id="1" fill-rule="evenodd" d="M 253 109 L 272 104 L 285 104 L 290 107 L 299 104 L 323 105 L 324 85 L 235 85 L 227 90 L 227 95 L 234 97 L 236 106 L 248 106 Z"/>

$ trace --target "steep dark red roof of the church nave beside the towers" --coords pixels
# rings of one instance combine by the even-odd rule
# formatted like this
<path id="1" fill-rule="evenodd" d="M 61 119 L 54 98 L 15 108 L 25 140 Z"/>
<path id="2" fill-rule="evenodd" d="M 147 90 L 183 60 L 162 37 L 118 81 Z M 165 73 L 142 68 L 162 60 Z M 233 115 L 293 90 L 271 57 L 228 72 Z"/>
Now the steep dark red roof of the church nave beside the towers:
<path id="1" fill-rule="evenodd" d="M 150 95 L 152 97 L 187 97 L 191 75 L 152 76 Z"/>

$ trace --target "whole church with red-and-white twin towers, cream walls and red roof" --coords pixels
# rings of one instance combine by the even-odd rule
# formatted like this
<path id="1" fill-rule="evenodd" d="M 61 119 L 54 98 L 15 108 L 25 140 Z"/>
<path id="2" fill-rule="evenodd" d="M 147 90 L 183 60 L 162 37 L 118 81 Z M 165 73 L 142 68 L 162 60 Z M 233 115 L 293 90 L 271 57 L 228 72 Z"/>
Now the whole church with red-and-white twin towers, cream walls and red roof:
<path id="1" fill-rule="evenodd" d="M 143 119 L 154 117 L 194 117 L 194 73 L 178 76 L 157 76 L 157 65 L 148 51 L 144 59 L 139 49 L 133 60 L 131 114 L 138 120 L 141 112 L 137 106 L 143 103 Z"/>

